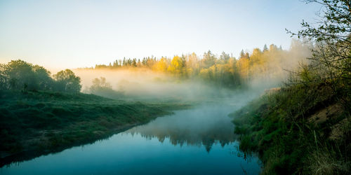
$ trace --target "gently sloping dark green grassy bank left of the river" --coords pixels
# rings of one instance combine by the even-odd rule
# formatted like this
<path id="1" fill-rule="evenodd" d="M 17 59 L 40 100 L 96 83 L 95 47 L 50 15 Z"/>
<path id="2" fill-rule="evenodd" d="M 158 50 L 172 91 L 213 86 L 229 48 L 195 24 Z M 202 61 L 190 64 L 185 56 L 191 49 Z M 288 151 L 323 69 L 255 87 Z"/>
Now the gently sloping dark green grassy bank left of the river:
<path id="1" fill-rule="evenodd" d="M 0 97 L 1 167 L 103 139 L 187 107 L 82 93 L 0 91 Z"/>

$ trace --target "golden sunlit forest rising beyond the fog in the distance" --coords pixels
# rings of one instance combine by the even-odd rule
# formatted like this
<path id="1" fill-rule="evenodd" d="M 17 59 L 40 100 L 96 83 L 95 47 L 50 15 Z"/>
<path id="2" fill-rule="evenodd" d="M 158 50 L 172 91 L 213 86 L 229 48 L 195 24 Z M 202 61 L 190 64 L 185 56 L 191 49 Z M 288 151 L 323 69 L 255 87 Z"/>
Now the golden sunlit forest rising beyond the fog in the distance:
<path id="1" fill-rule="evenodd" d="M 290 50 L 282 50 L 277 45 L 264 45 L 263 50 L 255 48 L 252 53 L 241 51 L 239 58 L 225 52 L 219 56 L 210 50 L 202 57 L 195 53 L 175 55 L 172 58 L 144 57 L 121 59 L 113 63 L 96 65 L 95 69 L 151 69 L 168 73 L 181 79 L 199 79 L 221 87 L 239 87 L 253 78 L 282 78 L 284 69 L 297 66 L 298 61 L 310 56 L 310 47 L 302 41 L 294 40 Z M 278 76 L 278 77 L 277 77 Z"/>

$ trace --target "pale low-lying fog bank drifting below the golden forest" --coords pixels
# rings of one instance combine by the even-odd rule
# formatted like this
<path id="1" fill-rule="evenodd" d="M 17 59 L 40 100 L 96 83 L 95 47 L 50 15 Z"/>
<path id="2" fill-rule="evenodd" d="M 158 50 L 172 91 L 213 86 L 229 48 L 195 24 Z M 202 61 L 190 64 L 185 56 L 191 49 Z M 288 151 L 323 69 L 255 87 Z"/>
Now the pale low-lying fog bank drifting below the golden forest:
<path id="1" fill-rule="evenodd" d="M 165 73 L 155 73 L 147 69 L 133 70 L 93 70 L 76 69 L 74 73 L 81 77 L 83 92 L 98 94 L 117 99 L 179 99 L 192 101 L 211 101 L 218 98 L 230 98 L 261 94 L 265 89 L 279 85 L 277 80 L 253 81 L 252 85 L 239 88 L 227 88 L 211 85 L 201 80 L 180 80 Z M 102 88 L 92 92 L 93 80 L 98 78 Z M 102 83 L 102 81 L 104 81 Z M 110 90 L 107 90 L 109 89 Z M 246 98 L 246 97 L 244 97 Z"/>

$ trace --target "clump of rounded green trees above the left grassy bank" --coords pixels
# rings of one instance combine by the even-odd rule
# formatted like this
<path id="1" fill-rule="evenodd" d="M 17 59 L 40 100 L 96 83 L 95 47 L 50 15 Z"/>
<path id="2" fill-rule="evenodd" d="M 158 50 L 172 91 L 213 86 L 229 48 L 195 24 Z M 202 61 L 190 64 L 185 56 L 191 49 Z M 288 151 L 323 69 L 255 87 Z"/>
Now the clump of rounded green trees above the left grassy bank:
<path id="1" fill-rule="evenodd" d="M 20 59 L 0 64 L 0 90 L 81 90 L 80 78 L 69 69 L 58 72 L 54 77 L 55 80 L 44 67 Z"/>

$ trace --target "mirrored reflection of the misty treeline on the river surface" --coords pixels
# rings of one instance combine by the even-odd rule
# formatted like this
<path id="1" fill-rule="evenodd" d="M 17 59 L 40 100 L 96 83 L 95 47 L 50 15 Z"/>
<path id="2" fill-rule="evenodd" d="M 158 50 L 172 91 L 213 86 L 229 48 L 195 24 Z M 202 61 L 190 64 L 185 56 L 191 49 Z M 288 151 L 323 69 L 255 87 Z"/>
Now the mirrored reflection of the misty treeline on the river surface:
<path id="1" fill-rule="evenodd" d="M 147 139 L 157 137 L 163 143 L 168 138 L 173 145 L 204 145 L 211 151 L 213 144 L 222 147 L 234 141 L 234 125 L 227 117 L 230 106 L 201 106 L 197 109 L 176 111 L 172 116 L 157 118 L 147 125 L 134 127 L 127 133 L 138 133 Z"/>

